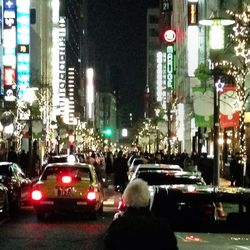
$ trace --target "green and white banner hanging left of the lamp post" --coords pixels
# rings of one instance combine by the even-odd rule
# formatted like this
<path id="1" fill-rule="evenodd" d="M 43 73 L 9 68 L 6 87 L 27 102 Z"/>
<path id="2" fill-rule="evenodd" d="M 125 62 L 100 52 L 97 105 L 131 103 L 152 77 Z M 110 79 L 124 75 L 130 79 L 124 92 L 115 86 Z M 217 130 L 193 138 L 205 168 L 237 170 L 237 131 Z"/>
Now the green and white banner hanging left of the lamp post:
<path id="1" fill-rule="evenodd" d="M 214 94 L 212 88 L 193 87 L 195 125 L 212 128 L 214 114 Z"/>

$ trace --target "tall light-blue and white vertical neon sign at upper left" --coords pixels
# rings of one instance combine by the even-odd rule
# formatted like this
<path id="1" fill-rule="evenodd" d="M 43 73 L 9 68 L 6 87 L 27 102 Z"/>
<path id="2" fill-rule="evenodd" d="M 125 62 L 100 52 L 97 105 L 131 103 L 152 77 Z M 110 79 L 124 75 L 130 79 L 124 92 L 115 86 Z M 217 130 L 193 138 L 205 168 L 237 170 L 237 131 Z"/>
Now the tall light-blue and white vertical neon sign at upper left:
<path id="1" fill-rule="evenodd" d="M 30 0 L 16 0 L 17 96 L 23 99 L 30 87 Z"/>

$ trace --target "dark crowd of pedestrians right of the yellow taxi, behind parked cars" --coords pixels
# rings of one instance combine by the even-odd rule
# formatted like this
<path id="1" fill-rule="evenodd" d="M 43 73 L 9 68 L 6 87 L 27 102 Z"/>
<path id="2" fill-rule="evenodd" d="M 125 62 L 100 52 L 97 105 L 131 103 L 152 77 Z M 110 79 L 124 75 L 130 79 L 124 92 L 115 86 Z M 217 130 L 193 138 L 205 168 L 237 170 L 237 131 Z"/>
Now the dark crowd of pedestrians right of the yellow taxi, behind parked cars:
<path id="1" fill-rule="evenodd" d="M 144 163 L 164 163 L 164 164 L 177 164 L 184 171 L 199 171 L 202 174 L 204 181 L 209 185 L 213 183 L 213 158 L 207 156 L 206 153 L 198 155 L 196 152 L 188 154 L 182 152 L 179 154 L 164 154 L 162 151 L 158 151 L 154 154 L 148 152 L 122 152 L 117 151 L 112 153 L 106 152 L 105 155 L 105 174 L 107 180 L 115 186 L 120 186 L 124 190 L 128 182 L 128 170 L 134 158 L 140 158 Z M 225 176 L 226 179 L 231 181 L 231 186 L 243 186 L 249 185 L 248 171 L 246 176 L 243 177 L 243 166 L 240 164 L 239 155 L 236 153 L 231 156 L 229 168 Z M 225 170 L 226 167 L 224 167 Z M 224 173 L 223 173 L 224 174 Z M 243 178 L 245 182 L 243 183 Z"/>

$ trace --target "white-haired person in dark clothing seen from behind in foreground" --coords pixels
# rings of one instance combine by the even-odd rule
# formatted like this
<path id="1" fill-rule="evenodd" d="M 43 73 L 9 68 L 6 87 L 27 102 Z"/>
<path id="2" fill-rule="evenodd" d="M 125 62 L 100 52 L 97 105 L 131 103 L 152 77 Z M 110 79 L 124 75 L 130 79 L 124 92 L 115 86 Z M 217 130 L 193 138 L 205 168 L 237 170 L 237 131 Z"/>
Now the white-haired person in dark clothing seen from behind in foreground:
<path id="1" fill-rule="evenodd" d="M 138 178 L 123 192 L 126 211 L 105 232 L 104 250 L 177 250 L 177 239 L 168 223 L 150 211 L 147 183 Z"/>

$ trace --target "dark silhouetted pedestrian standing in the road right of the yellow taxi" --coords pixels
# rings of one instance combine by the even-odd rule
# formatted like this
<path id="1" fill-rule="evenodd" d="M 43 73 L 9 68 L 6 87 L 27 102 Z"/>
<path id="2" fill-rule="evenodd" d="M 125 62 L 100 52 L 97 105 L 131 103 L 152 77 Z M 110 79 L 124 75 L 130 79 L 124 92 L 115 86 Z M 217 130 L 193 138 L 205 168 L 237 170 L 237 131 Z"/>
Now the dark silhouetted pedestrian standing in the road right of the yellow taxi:
<path id="1" fill-rule="evenodd" d="M 114 159 L 114 185 L 117 191 L 123 192 L 128 183 L 128 163 L 120 150 Z"/>

